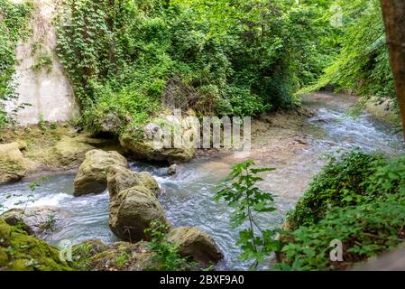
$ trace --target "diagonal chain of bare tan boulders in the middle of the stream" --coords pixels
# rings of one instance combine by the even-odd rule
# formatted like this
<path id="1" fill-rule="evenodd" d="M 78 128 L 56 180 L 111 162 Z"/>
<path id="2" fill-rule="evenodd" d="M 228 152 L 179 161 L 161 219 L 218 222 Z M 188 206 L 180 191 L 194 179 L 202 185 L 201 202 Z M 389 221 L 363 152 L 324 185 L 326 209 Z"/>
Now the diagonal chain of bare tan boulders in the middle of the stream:
<path id="1" fill-rule="evenodd" d="M 88 152 L 75 180 L 75 194 L 108 188 L 109 226 L 124 241 L 136 244 L 150 241 L 151 236 L 145 229 L 151 227 L 152 221 L 159 220 L 170 228 L 168 241 L 179 247 L 180 256 L 201 264 L 215 264 L 223 257 L 214 239 L 200 228 L 172 228 L 158 200 L 159 184 L 150 173 L 133 172 L 128 167 L 127 161 L 118 153 Z M 133 252 L 139 251 L 139 247 L 127 244 L 128 247 Z"/>

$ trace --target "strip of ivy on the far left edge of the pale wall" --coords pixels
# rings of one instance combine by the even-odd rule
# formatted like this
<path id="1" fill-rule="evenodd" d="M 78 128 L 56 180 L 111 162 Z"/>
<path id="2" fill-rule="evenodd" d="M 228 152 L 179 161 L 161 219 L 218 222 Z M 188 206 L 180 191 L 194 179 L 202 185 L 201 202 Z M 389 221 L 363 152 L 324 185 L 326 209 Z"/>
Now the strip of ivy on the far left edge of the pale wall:
<path id="1" fill-rule="evenodd" d="M 11 4 L 0 0 L 0 128 L 10 121 L 2 107 L 2 101 L 16 98 L 13 86 L 15 47 L 19 39 L 27 35 L 27 20 L 32 5 Z"/>

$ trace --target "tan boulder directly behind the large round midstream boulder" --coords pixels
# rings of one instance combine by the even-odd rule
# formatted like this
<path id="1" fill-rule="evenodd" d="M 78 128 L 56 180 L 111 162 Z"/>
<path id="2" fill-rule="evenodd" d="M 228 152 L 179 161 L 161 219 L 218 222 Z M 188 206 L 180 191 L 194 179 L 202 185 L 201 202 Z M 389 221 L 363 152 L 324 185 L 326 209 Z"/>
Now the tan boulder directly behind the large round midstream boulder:
<path id="1" fill-rule="evenodd" d="M 135 186 L 145 187 L 156 196 L 159 184 L 149 172 L 133 172 L 121 165 L 110 167 L 107 172 L 107 187 L 110 199 L 114 199 L 120 191 L 125 191 Z"/>

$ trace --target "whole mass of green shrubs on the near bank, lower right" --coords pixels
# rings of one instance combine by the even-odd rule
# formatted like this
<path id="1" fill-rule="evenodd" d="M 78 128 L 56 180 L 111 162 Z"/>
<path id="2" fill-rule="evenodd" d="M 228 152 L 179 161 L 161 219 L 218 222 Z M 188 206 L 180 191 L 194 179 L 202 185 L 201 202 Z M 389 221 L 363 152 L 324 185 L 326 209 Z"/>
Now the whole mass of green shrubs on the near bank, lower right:
<path id="1" fill-rule="evenodd" d="M 332 158 L 290 214 L 277 267 L 342 269 L 404 241 L 405 156 L 383 159 L 359 151 Z M 344 262 L 331 262 L 340 240 Z"/>

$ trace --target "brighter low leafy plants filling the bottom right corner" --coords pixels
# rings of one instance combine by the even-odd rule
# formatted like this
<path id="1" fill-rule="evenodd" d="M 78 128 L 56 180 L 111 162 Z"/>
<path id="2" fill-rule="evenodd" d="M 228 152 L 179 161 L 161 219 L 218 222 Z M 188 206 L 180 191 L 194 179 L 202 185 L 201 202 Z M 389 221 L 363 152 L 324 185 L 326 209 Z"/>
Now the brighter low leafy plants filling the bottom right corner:
<path id="1" fill-rule="evenodd" d="M 404 203 L 377 200 L 370 204 L 336 208 L 318 224 L 290 232 L 290 243 L 282 250 L 282 270 L 336 270 L 391 250 L 404 238 Z M 331 262 L 333 240 L 343 243 L 343 262 Z"/>

